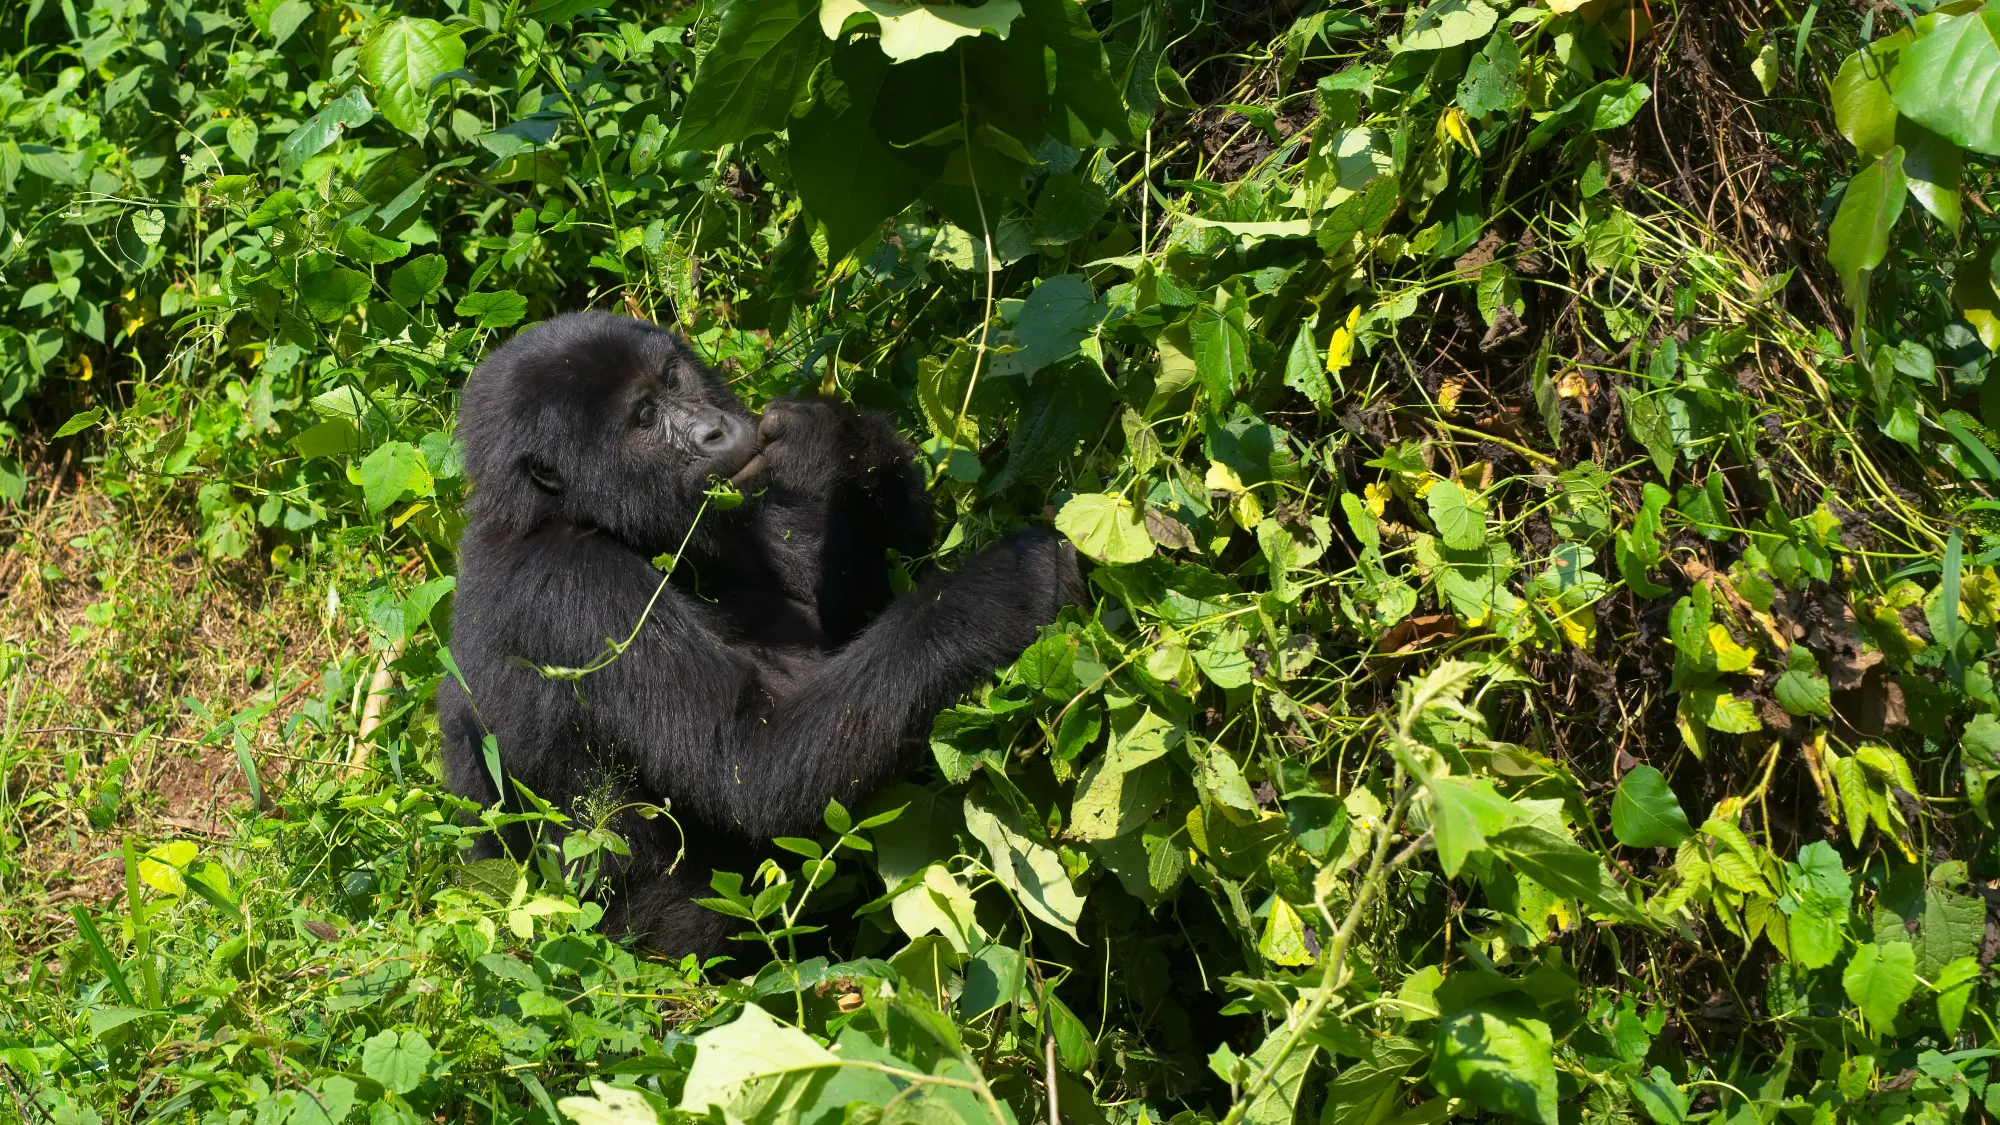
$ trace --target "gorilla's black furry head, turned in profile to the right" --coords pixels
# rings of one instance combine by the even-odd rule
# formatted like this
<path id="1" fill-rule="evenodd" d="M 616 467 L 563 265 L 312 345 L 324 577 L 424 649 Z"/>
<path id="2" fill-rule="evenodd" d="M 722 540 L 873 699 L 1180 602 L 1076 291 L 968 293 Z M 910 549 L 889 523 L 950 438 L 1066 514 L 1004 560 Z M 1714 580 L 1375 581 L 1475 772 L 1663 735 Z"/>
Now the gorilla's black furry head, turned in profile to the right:
<path id="1" fill-rule="evenodd" d="M 756 454 L 756 416 L 678 336 L 610 312 L 536 324 L 486 358 L 458 410 L 472 510 L 528 532 L 560 518 L 672 550 L 710 476 Z"/>

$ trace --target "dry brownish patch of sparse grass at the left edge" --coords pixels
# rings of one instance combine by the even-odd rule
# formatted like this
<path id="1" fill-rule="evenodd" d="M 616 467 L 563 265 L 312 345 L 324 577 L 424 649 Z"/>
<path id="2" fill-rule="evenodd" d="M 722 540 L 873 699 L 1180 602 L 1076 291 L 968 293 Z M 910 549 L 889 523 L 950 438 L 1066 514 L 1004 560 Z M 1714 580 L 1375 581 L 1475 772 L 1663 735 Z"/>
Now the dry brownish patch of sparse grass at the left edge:
<path id="1" fill-rule="evenodd" d="M 246 727 L 266 789 L 284 721 L 330 659 L 318 605 L 254 560 L 208 560 L 168 492 L 110 496 L 48 464 L 4 520 L 0 556 L 0 947 L 72 929 L 72 903 L 124 893 L 124 837 L 224 839 L 250 801 L 216 721 Z M 200 715 L 186 701 L 208 711 Z"/>

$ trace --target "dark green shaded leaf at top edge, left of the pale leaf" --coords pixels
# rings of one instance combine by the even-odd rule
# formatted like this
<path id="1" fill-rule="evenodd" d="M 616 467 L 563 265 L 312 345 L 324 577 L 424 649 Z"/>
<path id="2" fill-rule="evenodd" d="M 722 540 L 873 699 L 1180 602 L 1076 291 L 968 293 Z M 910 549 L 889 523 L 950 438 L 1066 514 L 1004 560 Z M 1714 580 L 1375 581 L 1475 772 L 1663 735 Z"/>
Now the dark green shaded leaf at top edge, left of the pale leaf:
<path id="1" fill-rule="evenodd" d="M 710 152 L 778 132 L 806 98 L 828 42 L 818 0 L 728 0 L 716 40 L 694 72 L 668 152 Z"/>

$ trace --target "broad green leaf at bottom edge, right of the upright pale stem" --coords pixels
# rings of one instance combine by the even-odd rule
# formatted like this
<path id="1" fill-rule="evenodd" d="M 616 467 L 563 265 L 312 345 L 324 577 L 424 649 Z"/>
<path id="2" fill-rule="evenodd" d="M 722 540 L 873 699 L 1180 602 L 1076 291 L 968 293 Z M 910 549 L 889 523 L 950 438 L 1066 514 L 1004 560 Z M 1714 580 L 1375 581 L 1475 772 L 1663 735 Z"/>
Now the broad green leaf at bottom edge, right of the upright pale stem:
<path id="1" fill-rule="evenodd" d="M 1438 1023 L 1430 1085 L 1502 1117 L 1556 1125 L 1554 1037 L 1520 993 L 1474 1001 Z"/>

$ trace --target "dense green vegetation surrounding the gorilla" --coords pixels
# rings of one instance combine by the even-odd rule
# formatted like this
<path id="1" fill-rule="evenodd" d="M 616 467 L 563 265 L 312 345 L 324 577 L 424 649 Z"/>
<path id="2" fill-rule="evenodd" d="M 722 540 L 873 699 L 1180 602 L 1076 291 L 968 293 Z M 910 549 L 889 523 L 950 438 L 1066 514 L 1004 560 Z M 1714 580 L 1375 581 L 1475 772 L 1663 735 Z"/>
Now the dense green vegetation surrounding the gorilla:
<path id="1" fill-rule="evenodd" d="M 0 44 L 14 1119 L 2000 1115 L 2000 4 Z M 1094 560 L 708 965 L 436 773 L 454 392 L 582 306 Z"/>

